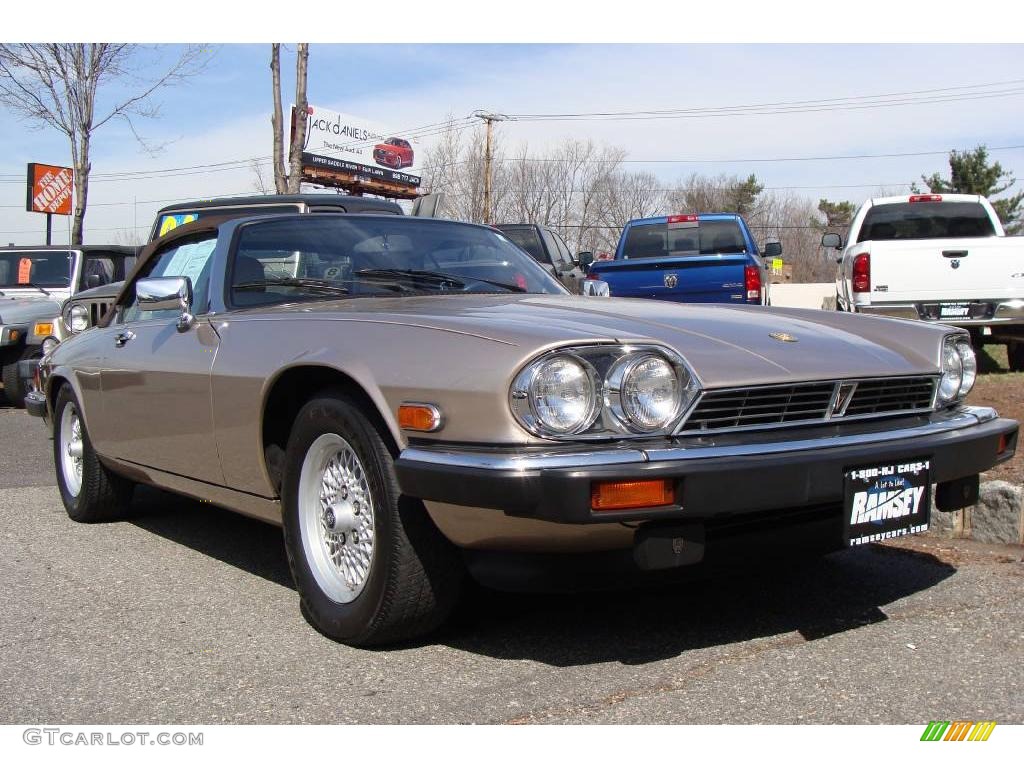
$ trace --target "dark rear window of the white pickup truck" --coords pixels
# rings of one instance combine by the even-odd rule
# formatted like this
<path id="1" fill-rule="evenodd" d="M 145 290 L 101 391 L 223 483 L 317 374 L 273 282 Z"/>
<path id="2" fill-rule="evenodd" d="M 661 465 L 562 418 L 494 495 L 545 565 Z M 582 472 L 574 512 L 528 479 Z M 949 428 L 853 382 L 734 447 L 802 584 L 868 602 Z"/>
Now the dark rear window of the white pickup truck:
<path id="1" fill-rule="evenodd" d="M 887 203 L 867 211 L 857 242 L 994 234 L 995 227 L 980 203 Z"/>

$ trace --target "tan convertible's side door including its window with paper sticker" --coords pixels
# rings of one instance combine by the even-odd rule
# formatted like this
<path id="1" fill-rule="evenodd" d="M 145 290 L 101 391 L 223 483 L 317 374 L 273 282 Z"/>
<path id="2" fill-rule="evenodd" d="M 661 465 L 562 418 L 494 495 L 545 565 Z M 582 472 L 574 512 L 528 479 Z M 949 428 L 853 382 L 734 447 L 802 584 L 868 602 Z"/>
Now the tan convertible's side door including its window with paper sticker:
<path id="1" fill-rule="evenodd" d="M 94 332 L 104 350 L 102 419 L 90 431 L 101 454 L 222 483 L 210 386 L 219 338 L 208 318 L 216 244 L 212 232 L 171 243 L 139 275 L 191 281 L 196 318 L 187 328 L 179 330 L 178 310 L 140 310 L 129 289 L 114 321 Z"/>

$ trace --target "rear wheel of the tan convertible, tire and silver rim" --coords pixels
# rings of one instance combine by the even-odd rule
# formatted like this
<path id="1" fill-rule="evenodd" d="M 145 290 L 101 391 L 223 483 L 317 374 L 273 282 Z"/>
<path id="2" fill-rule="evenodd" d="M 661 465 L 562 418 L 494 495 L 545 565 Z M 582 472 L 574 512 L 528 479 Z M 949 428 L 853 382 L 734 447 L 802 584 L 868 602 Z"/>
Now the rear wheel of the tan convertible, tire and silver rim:
<path id="1" fill-rule="evenodd" d="M 53 409 L 53 465 L 60 499 L 76 522 L 120 517 L 131 503 L 134 484 L 100 464 L 78 398 L 68 384 L 60 387 Z"/>

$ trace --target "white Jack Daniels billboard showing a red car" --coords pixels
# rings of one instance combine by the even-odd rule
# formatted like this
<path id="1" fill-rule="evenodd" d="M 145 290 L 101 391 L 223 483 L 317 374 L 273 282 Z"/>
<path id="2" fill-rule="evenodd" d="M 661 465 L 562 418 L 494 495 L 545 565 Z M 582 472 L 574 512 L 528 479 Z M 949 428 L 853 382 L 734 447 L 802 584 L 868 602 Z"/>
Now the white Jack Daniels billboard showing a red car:
<path id="1" fill-rule="evenodd" d="M 416 187 L 422 159 L 418 144 L 400 131 L 310 105 L 302 165 Z"/>

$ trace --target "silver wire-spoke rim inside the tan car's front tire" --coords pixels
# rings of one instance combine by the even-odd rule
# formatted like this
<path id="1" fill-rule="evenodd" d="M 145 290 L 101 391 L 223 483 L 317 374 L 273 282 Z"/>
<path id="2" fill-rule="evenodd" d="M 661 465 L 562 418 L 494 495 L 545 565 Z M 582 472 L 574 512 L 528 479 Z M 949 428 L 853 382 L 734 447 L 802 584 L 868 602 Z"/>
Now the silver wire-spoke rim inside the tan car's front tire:
<path id="1" fill-rule="evenodd" d="M 362 462 L 340 435 L 321 435 L 299 477 L 299 529 L 313 578 L 334 602 L 350 603 L 374 560 L 374 501 Z"/>

